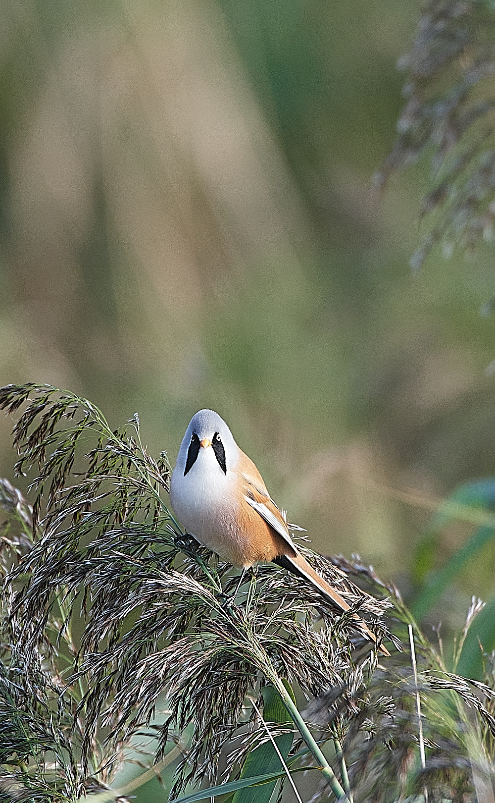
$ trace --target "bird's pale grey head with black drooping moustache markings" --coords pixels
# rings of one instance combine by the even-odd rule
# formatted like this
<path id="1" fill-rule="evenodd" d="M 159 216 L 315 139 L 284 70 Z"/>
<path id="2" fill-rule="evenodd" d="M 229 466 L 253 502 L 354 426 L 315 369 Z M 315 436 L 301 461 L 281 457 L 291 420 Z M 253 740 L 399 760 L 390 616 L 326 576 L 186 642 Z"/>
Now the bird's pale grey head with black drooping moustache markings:
<path id="1" fill-rule="evenodd" d="M 193 415 L 189 422 L 185 436 L 182 438 L 181 448 L 177 455 L 175 471 L 179 470 L 185 476 L 197 461 L 201 447 L 213 448 L 218 466 L 226 475 L 237 463 L 239 449 L 233 439 L 233 434 L 214 410 L 200 410 Z"/>

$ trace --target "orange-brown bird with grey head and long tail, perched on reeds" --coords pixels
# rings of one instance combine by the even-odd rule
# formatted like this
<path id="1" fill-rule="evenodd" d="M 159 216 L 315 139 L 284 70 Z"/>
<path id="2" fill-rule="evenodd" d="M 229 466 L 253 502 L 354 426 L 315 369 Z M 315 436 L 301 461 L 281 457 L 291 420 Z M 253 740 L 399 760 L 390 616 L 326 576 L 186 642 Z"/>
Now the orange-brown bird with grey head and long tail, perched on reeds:
<path id="1" fill-rule="evenodd" d="M 272 562 L 308 581 L 337 609 L 350 609 L 299 552 L 258 468 L 214 410 L 199 410 L 185 430 L 172 471 L 170 503 L 187 532 L 221 560 L 243 572 Z M 376 642 L 357 613 L 353 619 Z M 381 645 L 379 650 L 390 654 Z"/>

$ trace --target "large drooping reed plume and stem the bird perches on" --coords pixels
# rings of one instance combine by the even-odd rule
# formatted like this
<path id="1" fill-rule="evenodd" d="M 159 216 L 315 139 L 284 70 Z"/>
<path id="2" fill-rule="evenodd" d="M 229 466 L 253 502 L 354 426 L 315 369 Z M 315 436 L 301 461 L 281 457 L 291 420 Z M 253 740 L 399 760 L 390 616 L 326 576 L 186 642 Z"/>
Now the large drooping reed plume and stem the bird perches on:
<path id="1" fill-rule="evenodd" d="M 377 661 L 375 650 L 355 658 L 364 640 L 351 627 L 352 614 L 359 611 L 383 632 L 387 601 L 361 592 L 307 549 L 349 612 L 337 615 L 318 593 L 271 565 L 258 567 L 234 601 L 232 567 L 181 532 L 168 511 L 166 455 L 156 461 L 144 450 L 137 416 L 112 430 L 90 402 L 49 386 L 9 385 L 0 391 L 0 406 L 9 413 L 23 406 L 14 427 L 16 469 L 37 469 L 34 543 L 10 575 L 17 588 L 13 621 L 25 625 L 22 650 L 36 654 L 55 613 L 63 634 L 79 613 L 84 621 L 67 679 L 82 690 L 75 711 L 81 779 L 95 771 L 95 756 L 112 764 L 106 747 L 118 756 L 150 727 L 160 695 L 171 713 L 153 726 L 156 759 L 192 728 L 172 795 L 188 782 L 213 782 L 232 744 L 229 766 L 237 772 L 245 753 L 240 748 L 236 755 L 235 737 L 255 712 L 250 707 L 246 715 L 246 699 L 262 705 L 267 684 L 286 695 L 320 756 L 282 679 L 310 698 L 339 688 L 351 715 L 352 678 L 356 671 L 370 675 Z M 338 790 L 324 758 L 323 772 Z"/>

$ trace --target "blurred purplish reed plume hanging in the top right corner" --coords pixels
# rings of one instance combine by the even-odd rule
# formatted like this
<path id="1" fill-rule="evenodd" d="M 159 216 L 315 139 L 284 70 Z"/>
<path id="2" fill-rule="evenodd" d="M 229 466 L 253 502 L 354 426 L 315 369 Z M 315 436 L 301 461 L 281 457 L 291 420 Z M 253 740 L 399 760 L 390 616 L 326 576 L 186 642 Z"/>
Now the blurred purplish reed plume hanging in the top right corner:
<path id="1" fill-rule="evenodd" d="M 489 0 L 428 0 L 411 50 L 399 62 L 407 104 L 396 144 L 375 182 L 432 150 L 433 189 L 421 215 L 430 233 L 412 257 L 418 270 L 437 243 L 473 249 L 495 220 L 495 6 Z M 485 308 L 487 311 L 489 308 Z"/>

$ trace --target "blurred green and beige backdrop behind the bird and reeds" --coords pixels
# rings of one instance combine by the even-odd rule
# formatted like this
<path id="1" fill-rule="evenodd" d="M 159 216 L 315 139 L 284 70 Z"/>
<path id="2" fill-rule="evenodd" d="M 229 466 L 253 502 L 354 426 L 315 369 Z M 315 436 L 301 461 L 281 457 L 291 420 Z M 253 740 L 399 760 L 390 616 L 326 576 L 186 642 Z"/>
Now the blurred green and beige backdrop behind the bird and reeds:
<path id="1" fill-rule="evenodd" d="M 72 389 L 113 426 L 137 411 L 172 463 L 213 407 L 314 548 L 409 597 L 437 500 L 493 471 L 495 424 L 493 249 L 414 278 L 427 166 L 371 198 L 417 18 L 392 0 L 0 10 L 1 384 Z M 434 561 L 472 529 L 444 528 Z M 436 618 L 493 592 L 494 552 Z"/>

